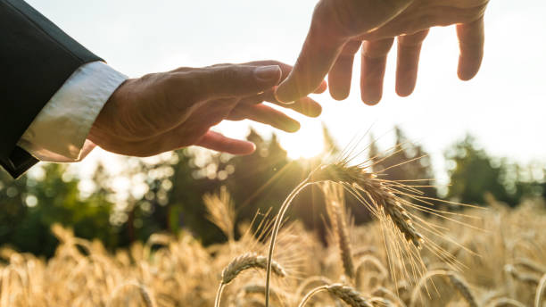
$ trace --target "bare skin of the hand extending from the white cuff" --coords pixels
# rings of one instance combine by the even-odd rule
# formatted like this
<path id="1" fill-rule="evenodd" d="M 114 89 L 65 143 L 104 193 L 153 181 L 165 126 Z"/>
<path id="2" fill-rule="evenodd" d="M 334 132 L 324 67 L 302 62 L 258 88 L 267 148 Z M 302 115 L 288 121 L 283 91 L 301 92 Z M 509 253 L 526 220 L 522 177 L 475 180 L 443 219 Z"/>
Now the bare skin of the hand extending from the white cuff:
<path id="1" fill-rule="evenodd" d="M 297 131 L 300 124 L 296 120 L 262 104 L 279 104 L 274 87 L 291 70 L 284 63 L 264 61 L 179 68 L 128 79 L 104 105 L 88 138 L 107 151 L 135 156 L 188 145 L 251 154 L 252 143 L 210 129 L 222 120 L 249 119 Z M 326 84 L 318 90 L 326 90 Z M 309 97 L 285 106 L 311 117 L 321 112 L 320 105 Z"/>

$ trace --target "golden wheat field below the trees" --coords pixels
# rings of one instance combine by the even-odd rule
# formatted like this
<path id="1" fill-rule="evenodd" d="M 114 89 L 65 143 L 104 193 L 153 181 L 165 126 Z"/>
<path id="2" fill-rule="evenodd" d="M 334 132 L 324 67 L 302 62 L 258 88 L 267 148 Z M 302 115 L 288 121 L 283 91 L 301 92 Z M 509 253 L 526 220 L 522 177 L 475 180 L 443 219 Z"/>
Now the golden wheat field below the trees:
<path id="1" fill-rule="evenodd" d="M 390 240 L 385 228 L 393 227 L 385 220 L 352 226 L 343 195 L 335 187 L 325 186 L 325 192 L 328 244 L 297 220 L 282 225 L 272 260 L 270 306 L 546 305 L 542 200 L 512 210 L 490 197 L 487 210 L 453 212 L 449 219 L 415 213 L 416 224 L 434 225 L 446 235 L 423 242 L 437 248 L 409 249 L 401 242 L 385 244 Z M 258 212 L 234 229 L 226 190 L 207 195 L 205 203 L 227 243 L 203 247 L 188 232 L 155 234 L 145 244 L 107 253 L 99 242 L 56 225 L 52 231 L 61 244 L 47 261 L 4 248 L 0 304 L 213 306 L 222 285 L 220 306 L 264 306 L 274 220 Z"/>

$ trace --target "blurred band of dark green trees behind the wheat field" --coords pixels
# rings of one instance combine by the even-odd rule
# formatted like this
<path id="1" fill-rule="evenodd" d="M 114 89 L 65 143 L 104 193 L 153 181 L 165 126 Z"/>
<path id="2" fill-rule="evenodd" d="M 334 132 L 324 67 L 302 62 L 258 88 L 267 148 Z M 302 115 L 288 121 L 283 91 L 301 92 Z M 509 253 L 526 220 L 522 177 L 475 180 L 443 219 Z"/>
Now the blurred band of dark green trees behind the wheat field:
<path id="1" fill-rule="evenodd" d="M 378 148 L 369 137 L 363 153 L 374 171 L 385 170 L 385 178 L 426 178 L 419 185 L 430 197 L 444 197 L 461 203 L 484 204 L 489 193 L 498 201 L 516 205 L 526 196 L 546 196 L 544 165 L 520 167 L 506 159 L 492 158 L 472 137 L 451 146 L 445 157 L 451 186 L 446 195 L 434 187 L 434 171 L 426 152 L 395 129 L 392 150 Z M 339 153 L 324 129 L 325 153 Z M 0 245 L 21 252 L 51 256 L 57 245 L 50 226 L 60 222 L 75 235 L 101 240 L 109 249 L 145 240 L 154 232 L 191 231 L 203 244 L 224 240 L 218 228 L 206 218 L 203 195 L 227 187 L 236 203 L 237 220 L 252 220 L 256 212 L 273 212 L 320 158 L 290 160 L 273 135 L 268 139 L 251 131 L 248 140 L 256 153 L 244 157 L 203 154 L 179 150 L 162 154 L 153 161 L 127 158 L 127 168 L 112 176 L 101 164 L 92 180 L 80 181 L 62 164 L 46 163 L 40 176 L 12 180 L 0 171 Z M 392 168 L 391 168 L 392 167 Z M 115 190 L 124 180 L 127 193 Z M 83 188 L 85 186 L 85 188 Z M 369 220 L 368 212 L 348 199 L 357 223 Z M 324 205 L 317 188 L 299 195 L 290 214 L 306 225 L 324 232 Z"/>

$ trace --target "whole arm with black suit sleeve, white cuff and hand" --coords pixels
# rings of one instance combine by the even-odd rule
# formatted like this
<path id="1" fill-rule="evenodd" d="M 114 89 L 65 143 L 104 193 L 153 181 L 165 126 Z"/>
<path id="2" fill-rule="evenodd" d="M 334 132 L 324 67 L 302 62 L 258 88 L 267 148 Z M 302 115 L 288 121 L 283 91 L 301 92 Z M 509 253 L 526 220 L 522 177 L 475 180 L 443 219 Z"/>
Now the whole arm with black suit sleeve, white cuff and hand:
<path id="1" fill-rule="evenodd" d="M 279 104 L 274 87 L 292 70 L 281 62 L 128 79 L 23 0 L 0 0 L 0 43 L 0 166 L 13 178 L 38 161 L 78 162 L 95 145 L 137 156 L 187 145 L 250 154 L 252 144 L 210 130 L 222 120 L 299 129 L 285 113 L 261 104 Z M 282 105 L 308 116 L 321 112 L 307 97 Z"/>

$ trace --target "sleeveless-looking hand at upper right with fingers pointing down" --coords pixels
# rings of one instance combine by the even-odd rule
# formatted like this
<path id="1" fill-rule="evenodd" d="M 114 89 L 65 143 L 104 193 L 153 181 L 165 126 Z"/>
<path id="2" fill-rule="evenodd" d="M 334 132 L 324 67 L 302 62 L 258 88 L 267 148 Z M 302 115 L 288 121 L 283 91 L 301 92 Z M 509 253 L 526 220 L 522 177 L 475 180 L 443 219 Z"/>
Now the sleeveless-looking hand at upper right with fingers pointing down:
<path id="1" fill-rule="evenodd" d="M 312 92 L 328 74 L 330 94 L 349 95 L 354 54 L 361 49 L 360 93 L 366 104 L 383 94 L 386 57 L 398 41 L 396 92 L 413 92 L 418 59 L 428 29 L 457 25 L 459 79 L 472 79 L 484 54 L 484 11 L 488 0 L 320 0 L 294 71 L 278 87 L 291 102 Z"/>

